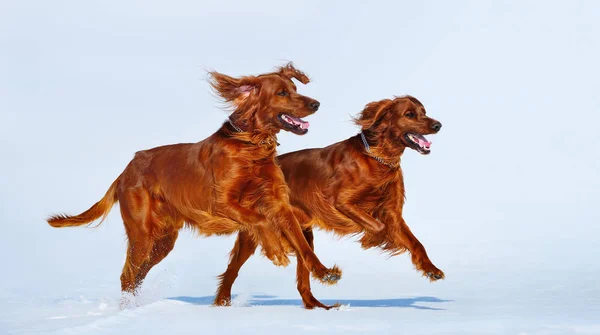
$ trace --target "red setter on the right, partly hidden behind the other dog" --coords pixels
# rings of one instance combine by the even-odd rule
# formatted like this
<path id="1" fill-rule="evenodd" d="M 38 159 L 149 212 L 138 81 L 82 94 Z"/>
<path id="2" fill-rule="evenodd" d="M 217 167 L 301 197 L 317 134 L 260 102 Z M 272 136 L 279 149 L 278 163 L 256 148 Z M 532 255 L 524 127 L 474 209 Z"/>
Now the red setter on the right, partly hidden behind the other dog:
<path id="1" fill-rule="evenodd" d="M 392 255 L 408 250 L 423 275 L 431 281 L 443 279 L 444 273 L 429 260 L 402 218 L 400 169 L 406 148 L 429 154 L 431 143 L 423 135 L 437 133 L 441 123 L 428 117 L 423 105 L 411 96 L 369 103 L 355 122 L 362 128 L 359 135 L 278 157 L 291 203 L 301 209 L 297 217 L 306 240 L 313 248 L 315 225 L 340 236 L 361 234 L 363 248 L 379 247 Z M 233 279 L 254 252 L 251 241 L 248 235 L 239 234 L 218 297 L 230 296 Z M 298 262 L 297 281 L 306 308 L 333 307 L 312 295 L 309 272 L 302 262 Z"/>

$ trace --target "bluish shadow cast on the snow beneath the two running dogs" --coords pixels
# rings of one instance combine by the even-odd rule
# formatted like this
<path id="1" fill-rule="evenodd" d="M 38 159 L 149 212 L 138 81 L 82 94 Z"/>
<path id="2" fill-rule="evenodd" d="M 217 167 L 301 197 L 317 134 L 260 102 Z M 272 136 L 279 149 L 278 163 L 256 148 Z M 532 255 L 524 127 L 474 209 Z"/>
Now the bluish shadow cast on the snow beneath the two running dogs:
<path id="1" fill-rule="evenodd" d="M 232 300 L 236 299 L 237 295 L 232 296 Z M 190 297 L 179 296 L 167 298 L 170 300 L 182 301 L 194 305 L 210 306 L 212 305 L 214 296 Z M 323 299 L 325 305 L 341 304 L 351 307 L 399 307 L 399 308 L 415 308 L 422 310 L 445 310 L 444 308 L 420 306 L 418 303 L 440 303 L 451 302 L 452 300 L 442 300 L 436 297 L 415 297 L 415 298 L 398 298 L 398 299 Z M 301 299 L 279 299 L 274 295 L 255 294 L 251 295 L 244 301 L 243 306 L 302 306 Z"/>

